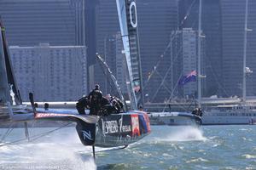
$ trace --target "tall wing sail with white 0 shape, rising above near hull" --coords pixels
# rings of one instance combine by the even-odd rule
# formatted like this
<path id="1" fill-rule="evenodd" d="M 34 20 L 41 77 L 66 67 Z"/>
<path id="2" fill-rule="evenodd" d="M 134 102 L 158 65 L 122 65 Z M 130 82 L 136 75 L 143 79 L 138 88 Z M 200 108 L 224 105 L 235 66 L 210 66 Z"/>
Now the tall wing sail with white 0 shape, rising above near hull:
<path id="1" fill-rule="evenodd" d="M 125 49 L 126 65 L 130 77 L 132 109 L 143 107 L 143 80 L 141 70 L 141 59 L 139 51 L 139 39 L 137 29 L 137 7 L 134 0 L 116 0 L 119 26 Z"/>

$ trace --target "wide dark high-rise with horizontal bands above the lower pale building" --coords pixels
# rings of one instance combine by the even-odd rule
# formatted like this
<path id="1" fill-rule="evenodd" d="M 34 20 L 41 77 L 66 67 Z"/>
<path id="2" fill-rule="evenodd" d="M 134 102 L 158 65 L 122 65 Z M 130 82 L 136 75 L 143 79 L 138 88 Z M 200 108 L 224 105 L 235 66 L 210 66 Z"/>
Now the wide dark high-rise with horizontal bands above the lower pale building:
<path id="1" fill-rule="evenodd" d="M 82 45 L 82 0 L 0 1 L 9 45 Z"/>

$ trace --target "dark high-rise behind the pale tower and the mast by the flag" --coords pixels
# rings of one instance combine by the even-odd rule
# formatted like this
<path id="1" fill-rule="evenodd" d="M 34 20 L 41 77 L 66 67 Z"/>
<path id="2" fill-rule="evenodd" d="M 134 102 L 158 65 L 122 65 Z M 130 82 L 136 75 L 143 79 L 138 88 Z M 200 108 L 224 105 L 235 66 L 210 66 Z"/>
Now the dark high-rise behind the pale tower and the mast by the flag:
<path id="1" fill-rule="evenodd" d="M 199 0 L 179 0 L 179 28 L 198 30 Z M 222 22 L 220 0 L 202 1 L 201 30 L 205 35 L 206 88 L 202 95 L 209 97 L 224 92 L 222 78 Z"/>

